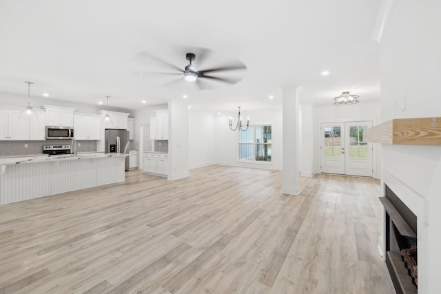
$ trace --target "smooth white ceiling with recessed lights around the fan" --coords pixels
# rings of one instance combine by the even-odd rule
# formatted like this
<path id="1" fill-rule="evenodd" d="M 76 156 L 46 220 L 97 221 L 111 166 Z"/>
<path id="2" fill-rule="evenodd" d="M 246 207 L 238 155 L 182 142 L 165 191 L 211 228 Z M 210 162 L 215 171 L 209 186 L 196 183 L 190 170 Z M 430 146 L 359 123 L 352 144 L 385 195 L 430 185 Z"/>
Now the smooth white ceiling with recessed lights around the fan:
<path id="1" fill-rule="evenodd" d="M 361 103 L 380 97 L 380 46 L 371 41 L 380 0 L 6 0 L 0 2 L 0 92 L 139 109 L 172 99 L 227 111 L 279 108 L 281 85 L 302 86 L 302 103 L 332 103 L 343 91 Z M 200 48 L 212 50 L 197 63 Z M 147 52 L 199 70 L 238 59 L 235 85 L 163 87 L 174 76 L 133 72 L 160 67 Z M 167 70 L 162 69 L 162 70 Z M 329 70 L 328 76 L 320 72 Z M 269 95 L 275 98 L 269 100 Z M 141 104 L 141 101 L 147 104 Z M 32 104 L 32 103 L 31 103 Z"/>

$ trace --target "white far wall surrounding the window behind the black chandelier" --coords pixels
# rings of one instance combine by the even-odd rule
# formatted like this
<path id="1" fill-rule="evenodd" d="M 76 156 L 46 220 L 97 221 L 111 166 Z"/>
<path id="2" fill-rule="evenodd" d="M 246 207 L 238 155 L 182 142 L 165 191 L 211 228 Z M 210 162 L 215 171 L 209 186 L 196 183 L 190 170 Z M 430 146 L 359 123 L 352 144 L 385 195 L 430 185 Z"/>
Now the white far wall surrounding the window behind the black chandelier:
<path id="1" fill-rule="evenodd" d="M 242 114 L 242 113 L 241 113 Z M 249 116 L 250 125 L 272 125 L 272 158 L 271 162 L 243 162 L 238 160 L 238 131 L 229 129 L 229 116 L 233 123 L 237 121 L 237 112 L 220 114 L 214 118 L 214 160 L 220 165 L 236 165 L 241 167 L 259 167 L 263 169 L 283 168 L 282 149 L 282 111 L 263 110 L 259 112 L 246 112 L 244 117 Z"/>

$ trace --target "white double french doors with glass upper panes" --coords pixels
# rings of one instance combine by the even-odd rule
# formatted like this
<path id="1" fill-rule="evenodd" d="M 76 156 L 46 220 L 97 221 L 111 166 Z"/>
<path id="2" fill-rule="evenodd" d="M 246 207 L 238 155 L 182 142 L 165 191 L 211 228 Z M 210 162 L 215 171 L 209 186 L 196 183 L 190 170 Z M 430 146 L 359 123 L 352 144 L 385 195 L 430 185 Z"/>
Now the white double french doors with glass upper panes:
<path id="1" fill-rule="evenodd" d="M 350 176 L 372 176 L 372 143 L 363 140 L 363 132 L 372 127 L 371 121 L 322 123 L 322 173 Z"/>

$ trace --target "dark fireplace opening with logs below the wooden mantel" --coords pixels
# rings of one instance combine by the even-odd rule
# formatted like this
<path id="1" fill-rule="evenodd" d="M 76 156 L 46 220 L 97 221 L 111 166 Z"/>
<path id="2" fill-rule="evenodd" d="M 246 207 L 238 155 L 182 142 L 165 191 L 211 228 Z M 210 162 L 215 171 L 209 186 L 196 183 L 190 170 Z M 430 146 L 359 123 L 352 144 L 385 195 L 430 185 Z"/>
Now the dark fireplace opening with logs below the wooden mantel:
<path id="1" fill-rule="evenodd" d="M 387 268 L 398 294 L 418 293 L 417 217 L 387 185 L 384 189 Z"/>

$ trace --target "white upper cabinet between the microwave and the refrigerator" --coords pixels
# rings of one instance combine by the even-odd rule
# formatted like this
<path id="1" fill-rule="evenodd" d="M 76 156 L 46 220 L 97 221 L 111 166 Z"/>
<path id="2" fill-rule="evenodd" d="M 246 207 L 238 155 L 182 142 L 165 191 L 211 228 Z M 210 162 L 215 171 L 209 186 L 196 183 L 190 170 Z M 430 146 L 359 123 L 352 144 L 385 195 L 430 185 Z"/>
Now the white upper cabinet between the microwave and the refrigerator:
<path id="1" fill-rule="evenodd" d="M 101 118 L 94 114 L 74 115 L 74 136 L 76 140 L 100 140 Z"/>

